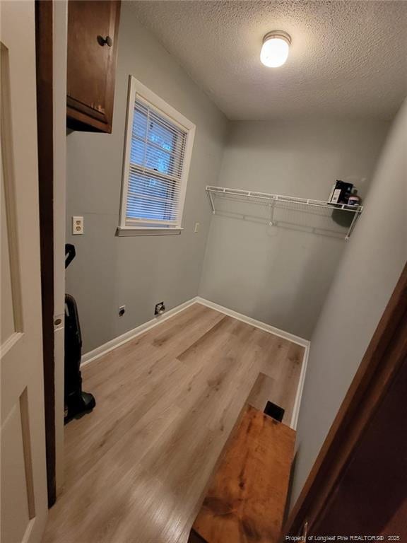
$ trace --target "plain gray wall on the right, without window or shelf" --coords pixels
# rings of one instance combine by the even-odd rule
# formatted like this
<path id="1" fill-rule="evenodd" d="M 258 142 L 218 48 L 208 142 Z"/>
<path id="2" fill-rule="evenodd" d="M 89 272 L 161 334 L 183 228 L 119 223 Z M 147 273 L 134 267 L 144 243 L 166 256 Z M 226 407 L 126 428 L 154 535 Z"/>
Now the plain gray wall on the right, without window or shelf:
<path id="1" fill-rule="evenodd" d="M 312 334 L 297 426 L 293 500 L 336 416 L 407 259 L 407 102 Z"/>

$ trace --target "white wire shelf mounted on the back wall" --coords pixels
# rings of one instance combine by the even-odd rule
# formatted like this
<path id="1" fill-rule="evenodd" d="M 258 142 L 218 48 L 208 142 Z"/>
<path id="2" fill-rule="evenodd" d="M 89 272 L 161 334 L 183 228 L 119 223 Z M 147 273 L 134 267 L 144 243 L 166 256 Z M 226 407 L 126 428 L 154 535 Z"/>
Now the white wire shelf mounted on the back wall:
<path id="1" fill-rule="evenodd" d="M 342 211 L 346 212 L 345 215 L 349 215 L 349 224 L 346 226 L 345 239 L 350 238 L 355 224 L 362 214 L 363 206 L 349 206 L 347 204 L 331 204 L 330 202 L 324 202 L 323 200 L 315 200 L 310 198 L 297 198 L 292 196 L 285 196 L 283 194 L 271 194 L 269 192 L 258 192 L 254 190 L 232 189 L 228 187 L 215 187 L 208 185 L 206 187 L 209 200 L 212 206 L 212 213 L 215 215 L 218 211 L 216 209 L 216 198 L 228 198 L 239 202 L 253 202 L 257 204 L 263 204 L 269 206 L 270 217 L 269 224 L 271 226 L 277 225 L 278 222 L 274 218 L 275 209 L 285 209 L 288 211 L 307 211 L 318 215 L 324 215 L 331 217 L 334 212 L 341 214 Z M 338 211 L 336 211 L 338 210 Z"/>

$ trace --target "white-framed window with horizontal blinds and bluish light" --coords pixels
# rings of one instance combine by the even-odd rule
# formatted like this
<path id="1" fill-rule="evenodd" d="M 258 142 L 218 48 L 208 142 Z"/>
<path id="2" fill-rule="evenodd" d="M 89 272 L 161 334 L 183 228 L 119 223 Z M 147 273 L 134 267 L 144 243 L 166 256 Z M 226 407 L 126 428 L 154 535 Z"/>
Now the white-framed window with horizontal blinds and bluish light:
<path id="1" fill-rule="evenodd" d="M 179 233 L 195 125 L 130 76 L 119 235 Z"/>

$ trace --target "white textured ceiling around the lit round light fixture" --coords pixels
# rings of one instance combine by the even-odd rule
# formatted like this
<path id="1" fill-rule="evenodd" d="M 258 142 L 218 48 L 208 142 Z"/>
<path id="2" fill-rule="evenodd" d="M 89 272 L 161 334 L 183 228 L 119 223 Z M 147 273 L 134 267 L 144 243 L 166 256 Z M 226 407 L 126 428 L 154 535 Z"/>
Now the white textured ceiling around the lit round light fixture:
<path id="1" fill-rule="evenodd" d="M 134 1 L 141 23 L 230 119 L 390 119 L 407 94 L 406 1 Z M 269 30 L 292 37 L 281 68 Z"/>

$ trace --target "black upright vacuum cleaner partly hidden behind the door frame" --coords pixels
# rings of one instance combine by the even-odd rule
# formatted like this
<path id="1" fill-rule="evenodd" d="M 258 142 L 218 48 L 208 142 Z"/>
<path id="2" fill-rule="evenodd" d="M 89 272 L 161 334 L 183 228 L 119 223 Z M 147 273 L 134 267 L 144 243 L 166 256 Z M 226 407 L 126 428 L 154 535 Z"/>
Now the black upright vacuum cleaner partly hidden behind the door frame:
<path id="1" fill-rule="evenodd" d="M 71 264 L 76 252 L 74 245 L 65 245 L 65 268 Z M 73 296 L 65 295 L 65 424 L 74 417 L 89 413 L 95 407 L 93 395 L 82 390 L 81 376 L 82 336 L 78 308 Z"/>

